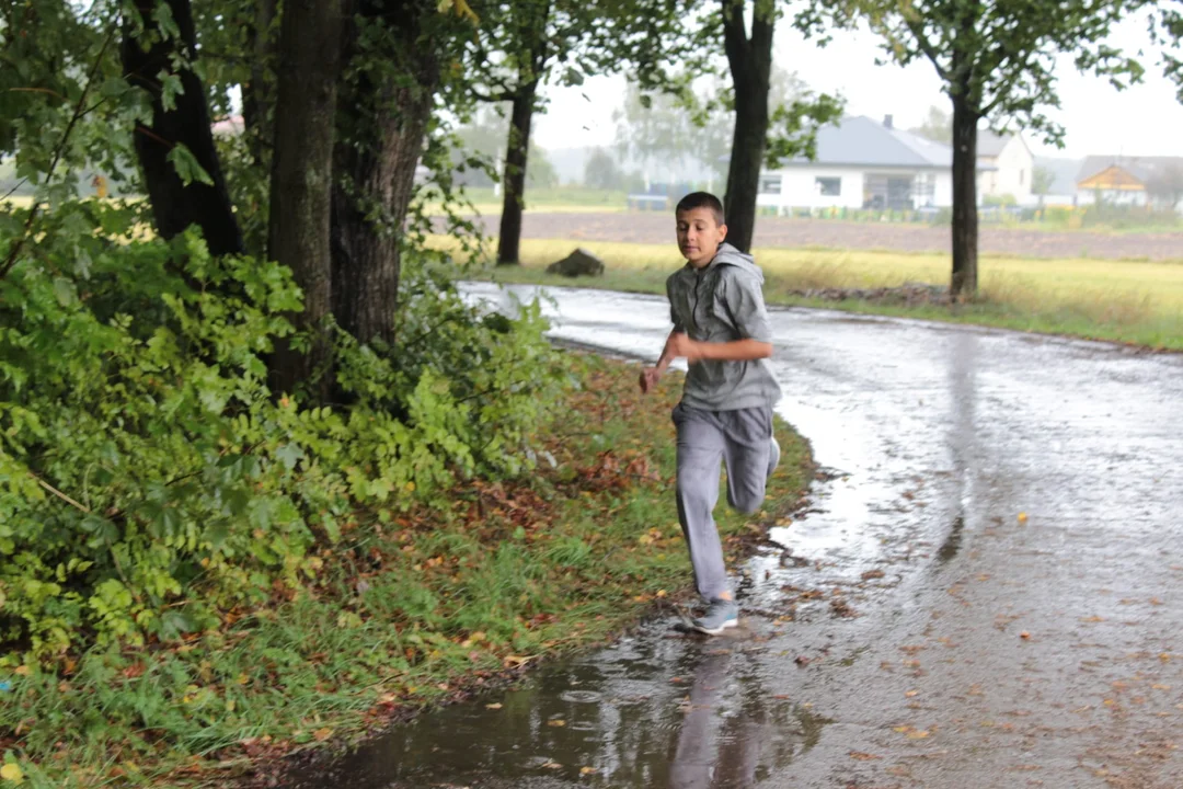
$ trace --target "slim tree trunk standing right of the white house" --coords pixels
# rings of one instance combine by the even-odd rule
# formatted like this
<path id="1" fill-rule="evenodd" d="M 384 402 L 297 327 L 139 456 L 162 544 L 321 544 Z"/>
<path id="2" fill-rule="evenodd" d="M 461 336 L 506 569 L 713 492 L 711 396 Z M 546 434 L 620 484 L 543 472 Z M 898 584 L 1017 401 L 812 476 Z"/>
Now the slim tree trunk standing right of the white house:
<path id="1" fill-rule="evenodd" d="M 977 292 L 977 121 L 965 98 L 953 95 L 953 273 L 949 293 L 953 300 Z"/>

